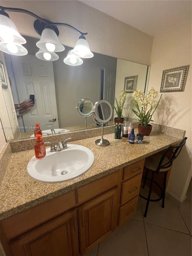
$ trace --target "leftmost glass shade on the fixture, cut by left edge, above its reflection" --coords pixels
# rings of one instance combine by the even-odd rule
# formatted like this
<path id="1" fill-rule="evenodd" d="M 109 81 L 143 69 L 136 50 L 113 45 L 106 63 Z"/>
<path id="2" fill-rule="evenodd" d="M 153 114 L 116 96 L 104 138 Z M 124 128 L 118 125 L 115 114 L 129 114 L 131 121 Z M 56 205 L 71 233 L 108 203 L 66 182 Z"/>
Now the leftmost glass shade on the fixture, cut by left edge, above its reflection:
<path id="1" fill-rule="evenodd" d="M 2 14 L 0 14 L 0 41 L 26 44 L 25 38 L 19 34 L 13 21 Z"/>

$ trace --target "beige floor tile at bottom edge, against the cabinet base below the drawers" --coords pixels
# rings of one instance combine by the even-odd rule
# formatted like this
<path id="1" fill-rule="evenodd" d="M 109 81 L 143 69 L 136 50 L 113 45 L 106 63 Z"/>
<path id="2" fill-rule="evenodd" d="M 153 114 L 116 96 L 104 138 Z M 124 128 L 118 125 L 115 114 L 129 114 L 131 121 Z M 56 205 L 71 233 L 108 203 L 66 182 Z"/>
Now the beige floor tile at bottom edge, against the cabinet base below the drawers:
<path id="1" fill-rule="evenodd" d="M 100 242 L 98 256 L 147 256 L 142 221 L 130 219 Z"/>

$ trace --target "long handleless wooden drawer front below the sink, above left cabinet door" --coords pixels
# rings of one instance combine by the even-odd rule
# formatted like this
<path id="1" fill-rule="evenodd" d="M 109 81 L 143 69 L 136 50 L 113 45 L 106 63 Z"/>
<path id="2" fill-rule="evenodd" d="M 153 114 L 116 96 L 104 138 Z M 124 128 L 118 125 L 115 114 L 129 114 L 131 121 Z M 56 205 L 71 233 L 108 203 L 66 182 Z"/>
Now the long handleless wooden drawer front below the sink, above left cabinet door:
<path id="1" fill-rule="evenodd" d="M 76 205 L 75 191 L 56 197 L 48 202 L 10 216 L 1 221 L 7 239 L 12 239 Z"/>

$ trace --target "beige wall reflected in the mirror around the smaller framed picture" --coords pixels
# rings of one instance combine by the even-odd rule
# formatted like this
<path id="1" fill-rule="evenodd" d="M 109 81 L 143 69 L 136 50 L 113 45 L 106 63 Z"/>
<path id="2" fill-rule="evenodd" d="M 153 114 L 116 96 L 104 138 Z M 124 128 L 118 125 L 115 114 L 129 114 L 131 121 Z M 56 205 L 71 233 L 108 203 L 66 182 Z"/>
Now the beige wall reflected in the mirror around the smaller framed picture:
<path id="1" fill-rule="evenodd" d="M 124 89 L 125 77 L 137 76 L 137 89 L 144 92 L 146 75 L 147 75 L 147 66 L 125 61 L 122 59 L 117 59 L 117 72 L 116 72 L 116 88 L 115 88 L 115 97 L 119 101 L 119 95 L 122 89 Z M 115 104 L 116 106 L 116 104 Z M 130 118 L 137 118 L 133 113 L 132 108 L 135 109 L 134 102 L 132 99 L 132 93 L 127 93 L 125 104 L 123 106 L 125 109 L 122 111 L 122 115 Z M 115 111 L 114 111 L 115 113 Z M 116 114 L 114 115 L 117 116 Z"/>

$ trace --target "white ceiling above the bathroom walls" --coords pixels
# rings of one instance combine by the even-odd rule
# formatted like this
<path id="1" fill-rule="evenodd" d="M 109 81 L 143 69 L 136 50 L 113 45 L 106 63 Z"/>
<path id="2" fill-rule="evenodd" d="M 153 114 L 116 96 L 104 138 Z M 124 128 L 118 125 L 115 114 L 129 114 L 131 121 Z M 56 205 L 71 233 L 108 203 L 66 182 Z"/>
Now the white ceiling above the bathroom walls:
<path id="1" fill-rule="evenodd" d="M 152 36 L 191 18 L 190 0 L 84 0 L 81 2 Z"/>

